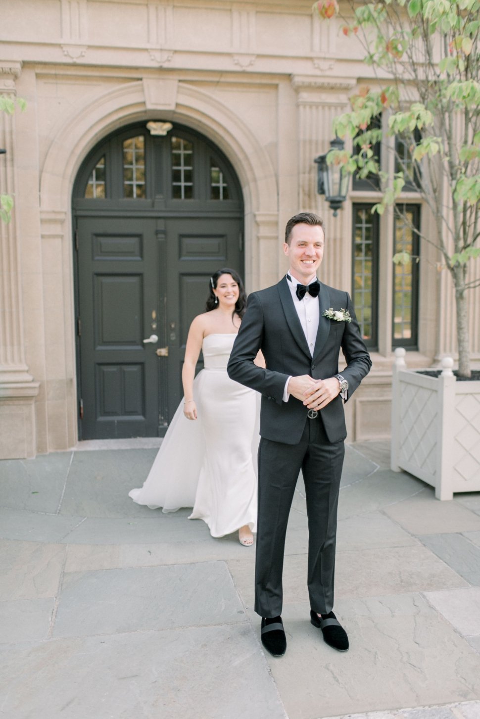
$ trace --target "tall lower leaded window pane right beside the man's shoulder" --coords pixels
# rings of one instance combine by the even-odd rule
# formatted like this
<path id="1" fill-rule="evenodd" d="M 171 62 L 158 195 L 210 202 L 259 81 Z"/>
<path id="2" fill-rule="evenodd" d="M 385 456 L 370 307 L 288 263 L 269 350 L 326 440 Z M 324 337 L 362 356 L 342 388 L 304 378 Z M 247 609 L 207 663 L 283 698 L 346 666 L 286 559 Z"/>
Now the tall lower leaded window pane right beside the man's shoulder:
<path id="1" fill-rule="evenodd" d="M 373 204 L 353 205 L 352 286 L 356 319 L 366 347 L 378 346 L 379 218 Z"/>

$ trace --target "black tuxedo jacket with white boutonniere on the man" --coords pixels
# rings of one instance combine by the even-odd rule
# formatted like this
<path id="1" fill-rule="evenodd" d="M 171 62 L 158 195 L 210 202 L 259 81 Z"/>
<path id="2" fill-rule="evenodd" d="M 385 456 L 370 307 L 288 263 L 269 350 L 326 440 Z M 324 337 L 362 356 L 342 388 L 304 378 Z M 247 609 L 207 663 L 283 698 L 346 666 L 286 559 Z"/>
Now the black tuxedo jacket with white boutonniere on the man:
<path id="1" fill-rule="evenodd" d="M 262 394 L 260 435 L 265 439 L 297 444 L 305 429 L 308 409 L 290 395 L 283 402 L 287 378 L 310 375 L 324 380 L 338 373 L 340 349 L 347 366 L 342 375 L 349 382 L 349 397 L 368 374 L 371 367 L 369 353 L 361 339 L 349 293 L 320 283 L 320 321 L 311 356 L 305 334 L 283 278 L 277 285 L 251 293 L 231 351 L 229 377 Z M 348 310 L 351 322 L 337 322 L 323 316 L 328 308 Z M 259 349 L 267 369 L 254 365 Z M 320 410 L 328 440 L 342 441 L 346 437 L 343 400 L 338 395 Z M 316 421 L 316 420 L 315 420 Z"/>

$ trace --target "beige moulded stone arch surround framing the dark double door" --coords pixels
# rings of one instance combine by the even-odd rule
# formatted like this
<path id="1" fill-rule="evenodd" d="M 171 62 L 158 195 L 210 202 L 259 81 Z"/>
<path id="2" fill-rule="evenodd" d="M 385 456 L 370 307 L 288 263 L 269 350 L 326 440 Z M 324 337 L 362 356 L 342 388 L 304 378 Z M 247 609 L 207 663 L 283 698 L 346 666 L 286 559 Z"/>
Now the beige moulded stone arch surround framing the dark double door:
<path id="1" fill-rule="evenodd" d="M 229 157 L 244 195 L 247 288 L 259 284 L 260 258 L 268 267 L 270 258 L 276 255 L 272 239 L 277 237 L 277 180 L 272 162 L 246 124 L 218 99 L 176 80 L 144 78 L 104 93 L 80 113 L 75 111 L 57 132 L 40 180 L 42 241 L 61 238 L 63 246 L 63 287 L 45 288 L 45 298 L 55 305 L 59 292 L 62 294 L 64 354 L 57 356 L 56 362 L 64 367 L 67 387 L 63 419 L 60 418 L 65 426 L 65 447 L 75 444 L 78 416 L 70 214 L 73 182 L 84 158 L 102 137 L 125 124 L 160 115 L 202 132 Z M 59 408 L 55 411 L 58 417 Z"/>

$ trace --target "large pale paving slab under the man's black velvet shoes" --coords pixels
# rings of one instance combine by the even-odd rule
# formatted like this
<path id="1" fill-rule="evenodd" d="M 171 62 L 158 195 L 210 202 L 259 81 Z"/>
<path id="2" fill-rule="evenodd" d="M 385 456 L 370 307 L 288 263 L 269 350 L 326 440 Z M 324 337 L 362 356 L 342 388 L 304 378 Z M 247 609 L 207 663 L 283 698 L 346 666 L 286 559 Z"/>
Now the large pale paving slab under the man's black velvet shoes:
<path id="1" fill-rule="evenodd" d="M 285 605 L 287 653 L 269 660 L 289 717 L 479 697 L 479 655 L 420 594 L 338 600 L 350 638 L 345 654 L 325 644 L 308 613 L 308 603 Z"/>

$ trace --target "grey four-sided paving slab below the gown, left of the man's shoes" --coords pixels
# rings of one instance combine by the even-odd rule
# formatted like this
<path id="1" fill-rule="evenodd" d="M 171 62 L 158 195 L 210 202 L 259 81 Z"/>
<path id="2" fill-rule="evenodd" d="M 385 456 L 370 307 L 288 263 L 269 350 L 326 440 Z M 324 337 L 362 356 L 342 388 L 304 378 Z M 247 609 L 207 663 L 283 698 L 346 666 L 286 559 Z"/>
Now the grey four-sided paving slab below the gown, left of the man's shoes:
<path id="1" fill-rule="evenodd" d="M 245 620 L 224 562 L 65 573 L 53 636 Z"/>

